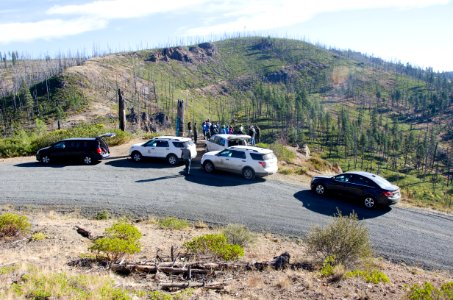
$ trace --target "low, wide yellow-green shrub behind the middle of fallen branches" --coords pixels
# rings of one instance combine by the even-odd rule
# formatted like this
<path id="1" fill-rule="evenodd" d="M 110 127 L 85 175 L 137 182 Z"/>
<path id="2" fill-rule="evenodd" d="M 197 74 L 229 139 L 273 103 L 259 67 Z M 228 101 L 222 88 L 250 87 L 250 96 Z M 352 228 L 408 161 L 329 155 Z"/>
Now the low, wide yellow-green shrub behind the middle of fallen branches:
<path id="1" fill-rule="evenodd" d="M 224 260 L 236 260 L 244 256 L 244 248 L 228 244 L 224 234 L 206 234 L 195 237 L 184 243 L 184 247 L 192 254 L 213 254 Z"/>

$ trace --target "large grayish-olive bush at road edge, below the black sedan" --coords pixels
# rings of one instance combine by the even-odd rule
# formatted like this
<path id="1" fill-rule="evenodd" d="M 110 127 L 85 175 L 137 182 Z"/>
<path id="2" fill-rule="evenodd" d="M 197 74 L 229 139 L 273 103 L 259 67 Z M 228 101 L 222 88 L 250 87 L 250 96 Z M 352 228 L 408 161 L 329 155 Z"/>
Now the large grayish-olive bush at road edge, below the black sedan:
<path id="1" fill-rule="evenodd" d="M 335 263 L 352 266 L 371 256 L 368 229 L 359 222 L 356 213 L 343 216 L 337 213 L 334 221 L 324 228 L 313 228 L 306 237 L 308 251 L 321 259 L 332 256 Z"/>

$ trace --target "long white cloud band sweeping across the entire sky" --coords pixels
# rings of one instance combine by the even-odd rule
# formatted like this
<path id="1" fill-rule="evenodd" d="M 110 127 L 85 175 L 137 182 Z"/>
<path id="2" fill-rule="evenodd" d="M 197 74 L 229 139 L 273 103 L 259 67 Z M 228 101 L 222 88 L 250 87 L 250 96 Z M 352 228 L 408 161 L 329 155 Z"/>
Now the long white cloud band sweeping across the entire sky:
<path id="1" fill-rule="evenodd" d="M 450 0 L 96 0 L 80 5 L 56 5 L 46 11 L 50 19 L 0 23 L 0 43 L 51 39 L 102 29 L 117 19 L 159 13 L 198 12 L 204 25 L 184 35 L 223 34 L 282 28 L 339 10 L 372 8 L 420 8 L 446 4 Z M 197 14 L 199 15 L 199 14 Z"/>

